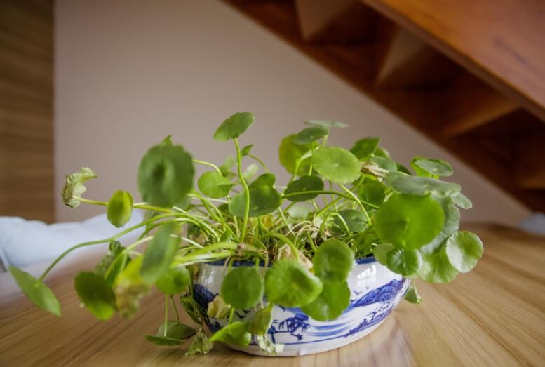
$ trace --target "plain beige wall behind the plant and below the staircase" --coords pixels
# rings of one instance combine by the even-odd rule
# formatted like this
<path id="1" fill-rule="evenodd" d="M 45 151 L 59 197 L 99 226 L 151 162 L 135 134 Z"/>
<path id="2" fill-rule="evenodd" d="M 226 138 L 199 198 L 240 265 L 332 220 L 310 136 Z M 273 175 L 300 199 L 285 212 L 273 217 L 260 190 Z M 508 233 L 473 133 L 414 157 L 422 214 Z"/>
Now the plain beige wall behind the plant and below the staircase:
<path id="1" fill-rule="evenodd" d="M 221 163 L 233 153 L 215 142 L 218 124 L 251 111 L 255 125 L 241 144 L 287 178 L 277 163 L 281 138 L 305 119 L 351 125 L 331 141 L 350 147 L 381 135 L 399 161 L 447 159 L 475 208 L 464 220 L 516 223 L 528 212 L 422 135 L 276 36 L 219 1 L 56 1 L 55 178 L 80 166 L 100 178 L 87 197 L 136 193 L 147 147 L 172 134 L 196 158 Z M 405 158 L 403 158 L 405 157 Z M 59 198 L 59 196 L 58 196 Z M 72 211 L 57 199 L 58 220 L 81 220 L 100 208 Z"/>

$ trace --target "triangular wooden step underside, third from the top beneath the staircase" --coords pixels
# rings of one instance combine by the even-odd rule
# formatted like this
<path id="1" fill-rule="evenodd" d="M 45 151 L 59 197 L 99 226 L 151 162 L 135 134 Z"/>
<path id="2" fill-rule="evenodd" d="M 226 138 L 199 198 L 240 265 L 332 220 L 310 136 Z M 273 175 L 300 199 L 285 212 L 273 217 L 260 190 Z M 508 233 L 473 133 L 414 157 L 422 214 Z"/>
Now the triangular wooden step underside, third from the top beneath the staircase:
<path id="1" fill-rule="evenodd" d="M 443 133 L 459 135 L 511 114 L 516 102 L 484 84 L 468 72 L 460 73 L 445 92 L 445 114 Z"/>

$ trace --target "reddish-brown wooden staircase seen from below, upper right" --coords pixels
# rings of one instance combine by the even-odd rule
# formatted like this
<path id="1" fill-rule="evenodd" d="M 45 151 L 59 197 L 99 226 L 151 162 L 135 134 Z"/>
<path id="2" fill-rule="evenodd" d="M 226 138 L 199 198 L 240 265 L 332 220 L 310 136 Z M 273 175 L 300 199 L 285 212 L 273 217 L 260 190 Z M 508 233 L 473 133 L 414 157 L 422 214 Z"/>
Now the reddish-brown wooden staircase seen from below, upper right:
<path id="1" fill-rule="evenodd" d="M 224 1 L 545 211 L 545 2 Z"/>

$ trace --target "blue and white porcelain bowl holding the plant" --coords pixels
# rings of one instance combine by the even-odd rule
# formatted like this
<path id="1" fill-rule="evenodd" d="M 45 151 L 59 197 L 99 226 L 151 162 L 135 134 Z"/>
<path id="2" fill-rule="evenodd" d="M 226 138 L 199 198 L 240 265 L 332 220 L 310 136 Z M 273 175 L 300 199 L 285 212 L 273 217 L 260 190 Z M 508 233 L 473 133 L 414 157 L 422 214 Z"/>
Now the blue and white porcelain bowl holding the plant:
<path id="1" fill-rule="evenodd" d="M 255 266 L 250 262 L 234 262 L 234 267 Z M 208 262 L 200 265 L 199 275 L 194 283 L 196 302 L 205 310 L 220 293 L 223 278 L 227 272 L 224 262 Z M 267 335 L 284 349 L 278 356 L 302 356 L 336 349 L 368 335 L 375 330 L 386 316 L 398 305 L 409 286 L 408 279 L 391 272 L 375 258 L 357 259 L 349 279 L 350 305 L 341 316 L 333 321 L 316 321 L 299 308 L 275 306 L 273 323 Z M 266 302 L 265 302 L 266 303 Z M 255 312 L 236 312 L 235 319 L 251 321 Z M 227 321 L 206 319 L 210 331 L 222 328 Z M 230 345 L 227 345 L 231 347 Z M 264 354 L 255 341 L 243 352 Z"/>

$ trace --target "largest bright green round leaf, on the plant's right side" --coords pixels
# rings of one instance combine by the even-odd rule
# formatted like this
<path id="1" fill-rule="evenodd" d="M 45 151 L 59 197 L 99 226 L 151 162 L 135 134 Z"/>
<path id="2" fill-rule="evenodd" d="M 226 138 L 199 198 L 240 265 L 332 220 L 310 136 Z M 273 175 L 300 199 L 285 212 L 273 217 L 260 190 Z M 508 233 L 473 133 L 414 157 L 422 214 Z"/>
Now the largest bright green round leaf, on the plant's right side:
<path id="1" fill-rule="evenodd" d="M 445 214 L 430 196 L 393 194 L 375 214 L 375 232 L 385 243 L 416 249 L 443 229 Z"/>

